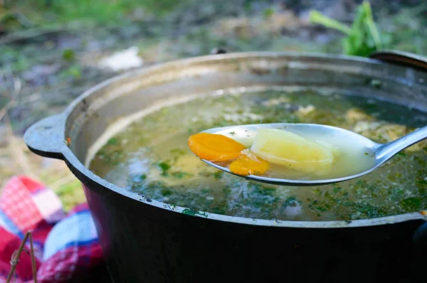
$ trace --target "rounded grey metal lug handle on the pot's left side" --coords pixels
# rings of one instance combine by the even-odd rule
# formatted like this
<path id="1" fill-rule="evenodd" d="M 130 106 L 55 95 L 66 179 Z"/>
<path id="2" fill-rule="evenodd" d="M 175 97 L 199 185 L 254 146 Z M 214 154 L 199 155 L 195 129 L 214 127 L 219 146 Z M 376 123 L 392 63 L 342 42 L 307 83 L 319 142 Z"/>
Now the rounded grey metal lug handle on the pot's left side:
<path id="1" fill-rule="evenodd" d="M 65 141 L 63 114 L 42 119 L 29 127 L 23 135 L 28 149 L 43 157 L 63 159 Z"/>

